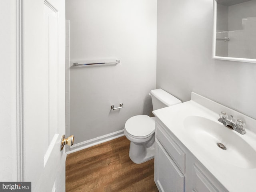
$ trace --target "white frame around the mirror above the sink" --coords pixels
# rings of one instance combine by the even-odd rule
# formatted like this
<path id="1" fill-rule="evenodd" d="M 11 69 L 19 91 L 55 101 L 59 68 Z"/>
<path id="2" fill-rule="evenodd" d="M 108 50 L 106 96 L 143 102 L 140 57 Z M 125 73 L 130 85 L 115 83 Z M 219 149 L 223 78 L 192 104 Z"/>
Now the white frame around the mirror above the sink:
<path id="1" fill-rule="evenodd" d="M 213 59 L 256 63 L 256 59 L 216 56 L 216 24 L 217 24 L 217 2 L 216 0 L 213 0 L 213 40 L 212 40 L 212 58 Z"/>

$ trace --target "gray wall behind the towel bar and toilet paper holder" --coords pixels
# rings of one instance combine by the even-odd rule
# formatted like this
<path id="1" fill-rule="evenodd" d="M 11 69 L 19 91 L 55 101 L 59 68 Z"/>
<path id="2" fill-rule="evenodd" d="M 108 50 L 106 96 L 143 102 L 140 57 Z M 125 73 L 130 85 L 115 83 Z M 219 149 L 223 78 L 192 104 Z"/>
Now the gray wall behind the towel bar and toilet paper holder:
<path id="1" fill-rule="evenodd" d="M 70 134 L 76 143 L 124 129 L 152 112 L 156 88 L 156 0 L 66 0 L 70 61 L 121 63 L 70 68 Z M 110 106 L 124 108 L 111 111 Z"/>

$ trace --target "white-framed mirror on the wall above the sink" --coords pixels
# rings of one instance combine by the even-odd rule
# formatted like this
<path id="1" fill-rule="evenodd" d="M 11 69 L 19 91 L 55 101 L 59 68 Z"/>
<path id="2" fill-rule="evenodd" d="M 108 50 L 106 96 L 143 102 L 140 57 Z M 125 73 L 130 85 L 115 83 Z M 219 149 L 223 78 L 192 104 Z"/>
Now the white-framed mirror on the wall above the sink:
<path id="1" fill-rule="evenodd" d="M 256 0 L 213 4 L 213 58 L 256 63 Z"/>

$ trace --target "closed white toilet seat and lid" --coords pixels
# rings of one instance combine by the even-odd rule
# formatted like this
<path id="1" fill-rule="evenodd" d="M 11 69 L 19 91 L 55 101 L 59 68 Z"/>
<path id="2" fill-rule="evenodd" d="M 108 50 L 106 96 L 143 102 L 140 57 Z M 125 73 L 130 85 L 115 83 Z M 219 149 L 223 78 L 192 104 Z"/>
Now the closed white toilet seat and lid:
<path id="1" fill-rule="evenodd" d="M 144 139 L 154 134 L 155 121 L 148 115 L 136 115 L 125 123 L 125 132 L 133 138 Z"/>

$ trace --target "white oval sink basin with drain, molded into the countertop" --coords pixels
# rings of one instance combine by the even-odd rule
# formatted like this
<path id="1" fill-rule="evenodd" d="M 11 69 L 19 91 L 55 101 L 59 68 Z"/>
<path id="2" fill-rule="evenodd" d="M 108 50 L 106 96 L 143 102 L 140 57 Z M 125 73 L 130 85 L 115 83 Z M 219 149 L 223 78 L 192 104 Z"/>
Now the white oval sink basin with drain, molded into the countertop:
<path id="1" fill-rule="evenodd" d="M 256 151 L 236 131 L 196 115 L 184 119 L 185 131 L 194 138 L 198 150 L 218 158 L 223 163 L 246 169 L 256 168 Z M 226 150 L 217 143 L 226 146 Z"/>

